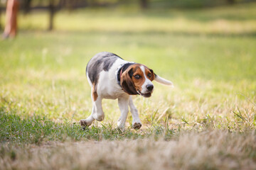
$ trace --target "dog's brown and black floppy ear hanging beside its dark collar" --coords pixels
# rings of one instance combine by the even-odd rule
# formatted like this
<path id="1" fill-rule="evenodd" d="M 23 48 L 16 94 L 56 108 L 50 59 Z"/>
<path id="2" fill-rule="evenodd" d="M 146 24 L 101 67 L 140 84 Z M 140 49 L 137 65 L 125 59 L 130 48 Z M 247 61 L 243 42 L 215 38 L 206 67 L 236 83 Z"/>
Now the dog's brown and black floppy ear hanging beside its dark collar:
<path id="1" fill-rule="evenodd" d="M 120 84 L 122 86 L 122 89 L 129 95 L 138 94 L 134 82 L 132 81 L 132 68 L 129 68 L 125 70 L 122 73 Z"/>

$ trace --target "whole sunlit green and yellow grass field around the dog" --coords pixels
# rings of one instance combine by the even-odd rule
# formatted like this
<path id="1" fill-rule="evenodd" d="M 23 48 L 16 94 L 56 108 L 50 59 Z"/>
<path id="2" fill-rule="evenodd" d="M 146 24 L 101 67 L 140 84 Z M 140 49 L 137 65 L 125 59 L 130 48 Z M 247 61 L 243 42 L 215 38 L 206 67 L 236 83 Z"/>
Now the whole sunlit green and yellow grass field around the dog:
<path id="1" fill-rule="evenodd" d="M 2 18 L 3 19 L 3 18 Z M 256 4 L 198 10 L 108 8 L 21 16 L 0 41 L 0 169 L 256 169 Z M 146 64 L 174 89 L 134 96 L 143 126 L 90 115 L 97 52 Z"/>

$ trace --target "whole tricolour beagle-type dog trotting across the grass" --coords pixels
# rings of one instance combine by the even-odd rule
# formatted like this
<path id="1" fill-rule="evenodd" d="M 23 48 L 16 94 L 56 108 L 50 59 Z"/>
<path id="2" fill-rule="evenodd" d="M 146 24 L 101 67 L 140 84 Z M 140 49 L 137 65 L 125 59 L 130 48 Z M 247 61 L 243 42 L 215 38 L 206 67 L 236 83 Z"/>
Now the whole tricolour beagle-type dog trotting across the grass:
<path id="1" fill-rule="evenodd" d="M 124 130 L 130 108 L 132 128 L 139 129 L 142 127 L 142 122 L 132 102 L 132 95 L 150 97 L 154 91 L 151 82 L 153 80 L 173 86 L 171 81 L 154 74 L 153 70 L 145 65 L 127 62 L 111 52 L 100 52 L 92 57 L 87 64 L 86 75 L 92 87 L 92 113 L 87 119 L 80 120 L 80 125 L 83 127 L 90 126 L 95 119 L 97 121 L 104 119 L 102 98 L 118 98 L 121 116 L 117 120 L 117 127 Z"/>

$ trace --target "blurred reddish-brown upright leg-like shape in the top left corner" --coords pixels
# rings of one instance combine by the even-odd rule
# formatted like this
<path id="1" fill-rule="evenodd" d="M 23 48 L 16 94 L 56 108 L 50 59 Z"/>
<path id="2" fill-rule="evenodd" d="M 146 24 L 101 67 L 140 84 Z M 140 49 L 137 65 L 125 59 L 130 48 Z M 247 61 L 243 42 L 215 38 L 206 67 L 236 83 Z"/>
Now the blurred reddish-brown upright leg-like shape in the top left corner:
<path id="1" fill-rule="evenodd" d="M 6 6 L 6 26 L 2 37 L 15 38 L 17 34 L 18 0 L 8 0 Z"/>

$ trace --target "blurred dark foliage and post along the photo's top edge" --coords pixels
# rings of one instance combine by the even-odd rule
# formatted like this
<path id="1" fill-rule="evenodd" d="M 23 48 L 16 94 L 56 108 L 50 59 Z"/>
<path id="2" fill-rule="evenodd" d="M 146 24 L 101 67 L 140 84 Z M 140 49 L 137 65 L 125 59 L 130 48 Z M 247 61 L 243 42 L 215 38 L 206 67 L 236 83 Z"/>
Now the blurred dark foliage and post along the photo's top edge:
<path id="1" fill-rule="evenodd" d="M 55 14 L 59 11 L 73 12 L 80 8 L 122 8 L 127 10 L 198 9 L 215 6 L 232 6 L 255 0 L 23 0 L 20 11 L 23 16 L 37 11 L 48 13 L 48 30 L 53 30 Z M 0 29 L 3 28 L 6 0 L 0 1 Z"/>

